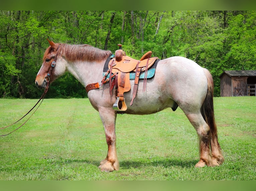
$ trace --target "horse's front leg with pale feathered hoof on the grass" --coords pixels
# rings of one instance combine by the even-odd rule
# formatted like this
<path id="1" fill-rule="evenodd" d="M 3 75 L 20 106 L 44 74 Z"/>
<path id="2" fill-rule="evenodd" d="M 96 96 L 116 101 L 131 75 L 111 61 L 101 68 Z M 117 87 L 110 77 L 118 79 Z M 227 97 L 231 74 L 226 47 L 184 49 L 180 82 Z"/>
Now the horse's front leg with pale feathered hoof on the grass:
<path id="1" fill-rule="evenodd" d="M 99 168 L 101 171 L 111 172 L 119 170 L 119 161 L 116 153 L 116 113 L 111 109 L 99 109 L 100 117 L 105 129 L 106 141 L 108 144 L 107 157 L 101 161 Z"/>

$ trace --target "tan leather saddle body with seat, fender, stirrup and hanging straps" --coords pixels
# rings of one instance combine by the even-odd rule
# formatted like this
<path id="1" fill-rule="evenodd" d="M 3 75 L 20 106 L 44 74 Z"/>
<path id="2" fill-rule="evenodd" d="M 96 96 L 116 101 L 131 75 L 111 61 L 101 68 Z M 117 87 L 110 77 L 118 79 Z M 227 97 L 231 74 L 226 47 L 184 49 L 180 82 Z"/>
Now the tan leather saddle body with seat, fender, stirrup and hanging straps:
<path id="1" fill-rule="evenodd" d="M 133 59 L 125 55 L 123 50 L 117 50 L 115 52 L 115 58 L 110 60 L 108 67 L 112 74 L 115 74 L 115 87 L 116 87 L 116 102 L 113 105 L 114 110 L 126 111 L 127 105 L 124 100 L 124 93 L 131 90 L 130 84 L 130 72 L 135 72 L 133 96 L 130 102 L 130 106 L 133 104 L 133 100 L 136 96 L 139 76 L 141 72 L 145 72 L 144 85 L 147 78 L 147 70 L 152 67 L 157 57 L 151 57 L 152 52 L 149 51 L 144 54 L 140 60 Z M 112 75 L 111 74 L 111 75 Z M 144 86 L 143 86 L 144 91 Z"/>

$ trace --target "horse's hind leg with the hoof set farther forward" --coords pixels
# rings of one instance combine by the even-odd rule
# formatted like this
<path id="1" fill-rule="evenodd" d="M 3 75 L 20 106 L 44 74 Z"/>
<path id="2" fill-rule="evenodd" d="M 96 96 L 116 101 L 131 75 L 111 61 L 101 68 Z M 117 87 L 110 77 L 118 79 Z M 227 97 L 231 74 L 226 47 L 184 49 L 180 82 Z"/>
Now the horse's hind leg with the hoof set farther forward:
<path id="1" fill-rule="evenodd" d="M 185 112 L 185 114 L 190 123 L 196 129 L 199 138 L 200 160 L 195 167 L 203 167 L 205 165 L 215 166 L 215 164 L 212 162 L 210 151 L 211 132 L 209 125 L 205 122 L 200 111 L 199 113 Z"/>

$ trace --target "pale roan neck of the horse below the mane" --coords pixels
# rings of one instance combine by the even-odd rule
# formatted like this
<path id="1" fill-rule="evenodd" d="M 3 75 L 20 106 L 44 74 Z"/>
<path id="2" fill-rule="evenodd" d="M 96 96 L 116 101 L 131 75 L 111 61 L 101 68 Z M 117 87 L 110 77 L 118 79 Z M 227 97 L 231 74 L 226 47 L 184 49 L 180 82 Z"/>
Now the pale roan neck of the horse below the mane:
<path id="1" fill-rule="evenodd" d="M 85 87 L 102 80 L 105 61 L 101 63 L 77 61 L 68 63 L 67 70 Z"/>

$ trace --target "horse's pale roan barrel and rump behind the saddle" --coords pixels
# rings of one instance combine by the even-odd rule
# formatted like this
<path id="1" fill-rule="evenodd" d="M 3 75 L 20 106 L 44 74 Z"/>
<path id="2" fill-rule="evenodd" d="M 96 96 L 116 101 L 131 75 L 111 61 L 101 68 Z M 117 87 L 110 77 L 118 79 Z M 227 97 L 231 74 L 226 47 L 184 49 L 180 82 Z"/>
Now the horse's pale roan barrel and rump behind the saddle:
<path id="1" fill-rule="evenodd" d="M 131 81 L 131 90 L 134 82 Z M 139 82 L 138 91 L 132 106 L 126 113 L 146 114 L 177 105 L 197 108 L 207 93 L 207 78 L 202 67 L 184 57 L 170 57 L 158 62 L 155 76 L 147 80 L 146 91 L 142 91 L 143 81 Z M 125 93 L 125 100 L 130 102 L 132 91 Z"/>

